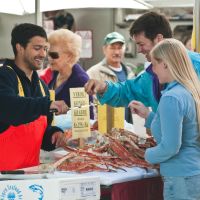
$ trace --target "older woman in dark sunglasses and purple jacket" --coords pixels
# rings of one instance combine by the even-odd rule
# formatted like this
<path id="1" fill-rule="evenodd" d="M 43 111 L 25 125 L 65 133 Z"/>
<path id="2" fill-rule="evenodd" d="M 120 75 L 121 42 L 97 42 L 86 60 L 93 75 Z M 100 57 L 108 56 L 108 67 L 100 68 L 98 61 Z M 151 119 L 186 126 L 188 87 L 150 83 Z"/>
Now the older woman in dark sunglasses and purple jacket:
<path id="1" fill-rule="evenodd" d="M 48 86 L 55 90 L 56 100 L 64 100 L 71 107 L 69 88 L 83 87 L 89 79 L 87 73 L 77 64 L 81 52 L 81 37 L 70 30 L 59 29 L 51 32 L 48 40 L 48 60 L 53 70 Z M 91 101 L 93 99 L 90 96 Z M 92 108 L 90 118 L 94 118 Z"/>

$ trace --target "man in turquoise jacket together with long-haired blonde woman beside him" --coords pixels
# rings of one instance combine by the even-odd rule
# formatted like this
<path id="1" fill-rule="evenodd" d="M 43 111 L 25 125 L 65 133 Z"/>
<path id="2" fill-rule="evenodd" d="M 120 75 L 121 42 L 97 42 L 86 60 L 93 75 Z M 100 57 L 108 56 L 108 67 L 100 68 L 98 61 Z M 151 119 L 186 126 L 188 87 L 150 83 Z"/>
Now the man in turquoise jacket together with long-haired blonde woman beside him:
<path id="1" fill-rule="evenodd" d="M 145 72 L 117 83 L 90 79 L 85 90 L 96 94 L 102 104 L 129 105 L 146 119 L 157 146 L 147 149 L 145 159 L 160 164 L 165 200 L 198 200 L 200 55 L 170 39 L 168 20 L 156 12 L 139 17 L 130 27 L 130 36 L 138 52 L 151 62 Z M 190 187 L 192 183 L 195 187 Z"/>

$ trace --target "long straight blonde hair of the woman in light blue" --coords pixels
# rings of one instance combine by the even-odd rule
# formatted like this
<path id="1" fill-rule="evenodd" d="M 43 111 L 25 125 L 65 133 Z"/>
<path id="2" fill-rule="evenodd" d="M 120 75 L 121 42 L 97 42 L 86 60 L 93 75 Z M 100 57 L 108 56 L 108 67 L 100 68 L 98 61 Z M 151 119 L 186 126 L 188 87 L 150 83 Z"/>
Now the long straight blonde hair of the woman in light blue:
<path id="1" fill-rule="evenodd" d="M 163 61 L 173 78 L 192 94 L 200 131 L 200 82 L 185 46 L 176 39 L 165 39 L 155 45 L 150 54 L 158 62 Z"/>

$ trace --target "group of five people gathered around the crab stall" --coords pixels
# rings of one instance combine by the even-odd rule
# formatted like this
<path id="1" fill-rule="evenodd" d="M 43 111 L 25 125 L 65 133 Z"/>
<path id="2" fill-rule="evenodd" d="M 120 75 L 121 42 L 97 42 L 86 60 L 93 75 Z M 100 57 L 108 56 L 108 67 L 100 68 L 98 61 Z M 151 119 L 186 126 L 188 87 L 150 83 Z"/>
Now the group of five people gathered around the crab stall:
<path id="1" fill-rule="evenodd" d="M 200 199 L 200 55 L 172 38 L 162 14 L 143 14 L 129 31 L 138 53 L 150 62 L 137 77 L 123 62 L 120 33 L 105 36 L 105 58 L 86 72 L 78 64 L 81 37 L 71 30 L 54 30 L 47 37 L 38 25 L 13 28 L 14 59 L 0 67 L 0 170 L 38 165 L 41 148 L 65 145 L 63 130 L 51 125 L 52 112 L 67 113 L 69 89 L 85 87 L 90 102 L 97 98 L 101 104 L 125 107 L 128 122 L 129 111 L 145 118 L 157 142 L 145 159 L 160 164 L 165 200 Z M 46 58 L 49 66 L 39 77 Z M 49 89 L 55 90 L 55 101 Z"/>

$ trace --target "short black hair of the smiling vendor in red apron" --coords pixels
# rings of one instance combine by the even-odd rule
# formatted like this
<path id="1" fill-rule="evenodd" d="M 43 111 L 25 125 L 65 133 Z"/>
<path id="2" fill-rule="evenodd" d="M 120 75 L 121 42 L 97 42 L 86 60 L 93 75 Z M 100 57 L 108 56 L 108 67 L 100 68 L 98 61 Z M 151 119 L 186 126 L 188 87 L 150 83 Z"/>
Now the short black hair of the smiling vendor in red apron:
<path id="1" fill-rule="evenodd" d="M 19 43 L 24 48 L 27 46 L 27 44 L 30 42 L 30 39 L 40 36 L 47 40 L 47 34 L 45 30 L 38 25 L 31 24 L 31 23 L 23 23 L 16 25 L 11 33 L 11 45 L 13 48 L 13 52 L 16 55 L 16 44 Z"/>

